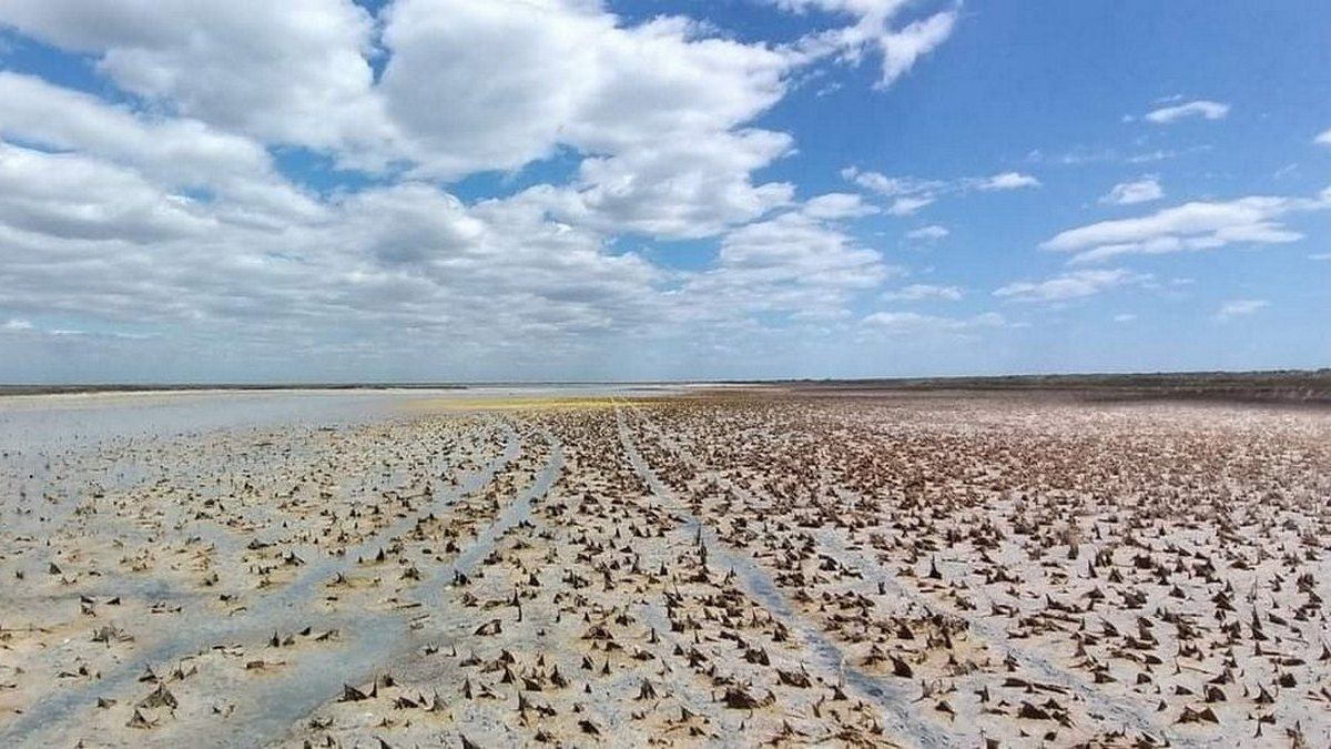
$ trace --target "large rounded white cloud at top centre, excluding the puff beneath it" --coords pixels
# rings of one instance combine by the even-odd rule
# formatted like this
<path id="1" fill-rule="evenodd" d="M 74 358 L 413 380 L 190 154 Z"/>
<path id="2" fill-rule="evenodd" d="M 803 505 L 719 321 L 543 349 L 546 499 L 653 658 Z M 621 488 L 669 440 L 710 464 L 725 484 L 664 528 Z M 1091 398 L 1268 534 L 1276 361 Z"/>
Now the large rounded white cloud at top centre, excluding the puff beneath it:
<path id="1" fill-rule="evenodd" d="M 387 109 L 421 169 L 443 176 L 515 169 L 560 144 L 705 141 L 779 101 L 797 64 L 685 19 L 623 27 L 599 4 L 555 0 L 402 0 L 383 40 Z"/>

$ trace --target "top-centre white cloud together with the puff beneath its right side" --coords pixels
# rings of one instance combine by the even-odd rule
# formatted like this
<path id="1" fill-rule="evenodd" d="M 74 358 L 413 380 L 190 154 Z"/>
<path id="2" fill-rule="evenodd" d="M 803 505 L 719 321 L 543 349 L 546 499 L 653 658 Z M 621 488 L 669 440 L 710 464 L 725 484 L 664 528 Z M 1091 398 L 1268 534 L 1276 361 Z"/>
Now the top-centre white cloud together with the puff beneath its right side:
<path id="1" fill-rule="evenodd" d="M 716 235 L 793 200 L 788 183 L 751 180 L 792 139 L 744 127 L 785 95 L 801 64 L 787 51 L 555 0 L 403 0 L 383 41 L 381 88 L 417 175 L 511 171 L 571 148 L 586 155 L 576 177 L 524 199 L 656 237 Z"/>

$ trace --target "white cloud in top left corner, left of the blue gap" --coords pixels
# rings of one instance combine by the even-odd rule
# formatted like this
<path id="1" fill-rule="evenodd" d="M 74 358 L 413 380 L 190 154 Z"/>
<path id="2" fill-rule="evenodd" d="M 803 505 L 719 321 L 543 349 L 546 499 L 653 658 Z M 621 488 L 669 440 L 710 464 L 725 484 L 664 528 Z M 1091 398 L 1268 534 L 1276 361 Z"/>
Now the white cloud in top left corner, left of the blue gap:
<path id="1" fill-rule="evenodd" d="M 319 149 L 391 137 L 366 59 L 374 21 L 351 0 L 8 0 L 0 23 L 91 53 L 122 89 L 228 131 Z"/>

